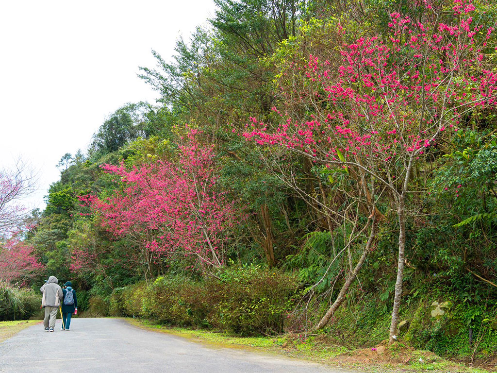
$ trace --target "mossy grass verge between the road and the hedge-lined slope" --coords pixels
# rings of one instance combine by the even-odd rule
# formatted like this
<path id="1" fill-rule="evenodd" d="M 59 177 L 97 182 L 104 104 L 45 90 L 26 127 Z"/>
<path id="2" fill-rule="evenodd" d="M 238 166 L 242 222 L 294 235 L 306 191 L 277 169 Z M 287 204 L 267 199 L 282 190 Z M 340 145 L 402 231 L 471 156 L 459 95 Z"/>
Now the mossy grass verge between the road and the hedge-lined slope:
<path id="1" fill-rule="evenodd" d="M 240 348 L 306 359 L 327 366 L 368 373 L 436 372 L 436 373 L 489 373 L 489 371 L 456 364 L 429 351 L 408 348 L 401 343 L 390 347 L 348 350 L 331 343 L 326 335 L 307 338 L 299 334 L 279 337 L 239 337 L 212 330 L 192 330 L 155 324 L 148 320 L 126 319 L 137 327 L 155 330 L 202 343 L 213 348 Z"/>

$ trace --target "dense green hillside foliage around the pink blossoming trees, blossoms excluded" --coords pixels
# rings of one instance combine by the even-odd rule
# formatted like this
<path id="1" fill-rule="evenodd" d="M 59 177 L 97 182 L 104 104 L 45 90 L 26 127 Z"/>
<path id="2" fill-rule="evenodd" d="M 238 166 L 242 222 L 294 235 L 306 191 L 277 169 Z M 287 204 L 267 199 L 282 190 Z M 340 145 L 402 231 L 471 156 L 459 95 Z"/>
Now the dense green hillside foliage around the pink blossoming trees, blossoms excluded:
<path id="1" fill-rule="evenodd" d="M 429 10 L 390 0 L 216 3 L 210 27 L 197 29 L 189 42 L 178 40 L 172 60 L 154 52 L 157 67 L 141 68 L 160 102 L 117 109 L 89 149 L 62 158 L 61 179 L 27 232 L 46 265 L 39 280 L 72 280 L 82 310 L 95 316 L 140 316 L 240 334 L 309 330 L 361 257 L 375 214 L 373 247 L 324 332 L 348 346 L 379 343 L 388 338 L 396 280 L 399 223 L 392 195 L 368 179 L 354 179 L 353 168 L 326 168 L 241 135 L 250 117 L 280 120 L 273 106 L 302 122 L 329 110 L 316 98 L 322 87 L 304 73 L 309 55 L 338 66 L 341 44 L 386 35 L 391 12 L 423 21 Z M 450 9 L 453 2 L 443 4 Z M 496 22 L 495 5 L 475 4 L 479 22 Z M 494 35 L 488 43 L 495 62 Z M 399 338 L 416 348 L 471 360 L 490 359 L 497 350 L 496 119 L 492 109 L 468 111 L 459 131 L 440 136 L 410 176 L 400 314 L 411 327 Z M 247 216 L 229 235 L 228 260 L 215 276 L 206 276 L 187 255 L 149 261 L 146 268 L 150 252 L 143 243 L 104 229 L 80 198 L 105 199 L 123 190 L 102 164 L 178 164 L 185 123 L 214 146 L 217 191 Z M 364 196 L 369 190 L 373 213 Z M 27 298 L 12 295 L 17 290 L 0 291 L 9 299 L 0 303 L 0 319 L 19 317 L 15 302 L 26 304 L 26 315 L 35 311 Z M 433 317 L 434 301 L 451 306 Z"/>

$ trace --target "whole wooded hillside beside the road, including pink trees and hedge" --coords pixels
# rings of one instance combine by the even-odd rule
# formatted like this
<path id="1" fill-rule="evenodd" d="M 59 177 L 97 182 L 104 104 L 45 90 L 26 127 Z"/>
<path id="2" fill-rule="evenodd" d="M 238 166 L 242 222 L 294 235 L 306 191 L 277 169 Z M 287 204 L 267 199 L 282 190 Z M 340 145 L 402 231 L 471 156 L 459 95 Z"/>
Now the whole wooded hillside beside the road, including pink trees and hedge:
<path id="1" fill-rule="evenodd" d="M 215 2 L 141 68 L 160 102 L 61 159 L 0 278 L 72 280 L 91 315 L 495 365 L 496 5 Z"/>

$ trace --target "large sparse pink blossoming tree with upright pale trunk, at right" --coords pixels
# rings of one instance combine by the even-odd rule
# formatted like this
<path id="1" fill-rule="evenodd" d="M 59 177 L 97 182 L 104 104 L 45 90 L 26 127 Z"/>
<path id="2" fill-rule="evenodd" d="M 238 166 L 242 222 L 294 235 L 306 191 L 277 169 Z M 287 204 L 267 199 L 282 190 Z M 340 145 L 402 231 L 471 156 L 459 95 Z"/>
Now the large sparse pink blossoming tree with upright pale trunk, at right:
<path id="1" fill-rule="evenodd" d="M 353 169 L 387 188 L 399 223 L 390 343 L 399 322 L 414 167 L 469 116 L 495 110 L 497 103 L 494 27 L 475 24 L 471 0 L 453 0 L 445 22 L 440 14 L 446 9 L 425 5 L 423 23 L 391 13 L 387 35 L 365 33 L 350 43 L 339 27 L 336 54 L 311 55 L 298 67 L 311 87 L 299 93 L 312 108 L 308 119 L 273 108 L 279 123 L 251 118 L 244 133 L 257 144 L 282 147 L 328 168 Z M 328 323 L 330 311 L 316 329 Z"/>

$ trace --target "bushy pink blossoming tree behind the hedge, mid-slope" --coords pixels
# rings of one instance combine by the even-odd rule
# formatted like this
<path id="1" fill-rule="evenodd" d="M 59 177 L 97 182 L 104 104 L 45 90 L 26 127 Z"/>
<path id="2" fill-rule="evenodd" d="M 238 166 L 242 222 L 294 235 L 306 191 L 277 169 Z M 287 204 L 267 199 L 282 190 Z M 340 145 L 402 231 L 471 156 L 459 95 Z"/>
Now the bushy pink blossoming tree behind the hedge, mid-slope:
<path id="1" fill-rule="evenodd" d="M 226 263 L 227 239 L 244 218 L 235 201 L 218 191 L 214 146 L 200 143 L 199 131 L 187 131 L 176 162 L 156 160 L 131 169 L 103 165 L 120 178 L 121 188 L 89 201 L 106 230 L 141 248 L 146 276 L 171 255 L 195 258 L 200 271 L 212 275 Z"/>

